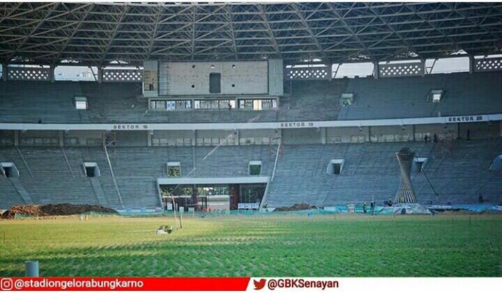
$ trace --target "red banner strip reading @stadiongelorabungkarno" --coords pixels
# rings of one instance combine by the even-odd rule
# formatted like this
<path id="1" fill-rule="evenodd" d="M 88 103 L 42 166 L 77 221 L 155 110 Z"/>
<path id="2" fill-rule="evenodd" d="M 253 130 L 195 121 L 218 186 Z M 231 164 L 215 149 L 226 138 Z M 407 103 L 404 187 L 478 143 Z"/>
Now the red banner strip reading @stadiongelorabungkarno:
<path id="1" fill-rule="evenodd" d="M 1 291 L 245 291 L 250 278 L 1 278 Z"/>

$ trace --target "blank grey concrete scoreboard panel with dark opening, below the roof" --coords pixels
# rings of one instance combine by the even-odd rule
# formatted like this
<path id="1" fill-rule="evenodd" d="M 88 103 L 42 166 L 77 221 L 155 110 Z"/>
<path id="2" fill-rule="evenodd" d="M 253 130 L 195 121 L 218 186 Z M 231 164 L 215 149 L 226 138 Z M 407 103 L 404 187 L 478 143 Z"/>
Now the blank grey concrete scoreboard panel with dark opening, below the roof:
<path id="1" fill-rule="evenodd" d="M 209 93 L 213 72 L 221 74 L 218 95 L 268 93 L 267 61 L 160 62 L 159 68 L 161 95 L 213 95 Z"/>

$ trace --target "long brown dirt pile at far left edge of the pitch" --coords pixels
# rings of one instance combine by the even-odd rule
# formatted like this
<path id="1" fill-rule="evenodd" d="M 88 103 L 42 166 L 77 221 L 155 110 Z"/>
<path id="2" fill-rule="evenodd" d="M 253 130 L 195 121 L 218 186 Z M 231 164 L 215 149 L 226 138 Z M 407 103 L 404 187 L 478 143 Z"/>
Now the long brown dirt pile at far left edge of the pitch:
<path id="1" fill-rule="evenodd" d="M 102 205 L 70 205 L 59 203 L 56 205 L 13 205 L 1 215 L 2 219 L 14 219 L 15 214 L 25 216 L 66 216 L 70 214 L 82 214 L 86 212 L 100 212 L 116 214 L 115 209 Z"/>

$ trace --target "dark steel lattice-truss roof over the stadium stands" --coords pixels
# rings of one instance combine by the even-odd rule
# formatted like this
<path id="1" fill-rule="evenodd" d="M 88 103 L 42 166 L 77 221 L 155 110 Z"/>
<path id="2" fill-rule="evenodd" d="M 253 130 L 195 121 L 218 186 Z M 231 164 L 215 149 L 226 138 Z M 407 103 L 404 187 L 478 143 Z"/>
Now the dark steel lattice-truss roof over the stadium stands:
<path id="1" fill-rule="evenodd" d="M 0 61 L 339 63 L 502 52 L 502 3 L 0 3 Z"/>

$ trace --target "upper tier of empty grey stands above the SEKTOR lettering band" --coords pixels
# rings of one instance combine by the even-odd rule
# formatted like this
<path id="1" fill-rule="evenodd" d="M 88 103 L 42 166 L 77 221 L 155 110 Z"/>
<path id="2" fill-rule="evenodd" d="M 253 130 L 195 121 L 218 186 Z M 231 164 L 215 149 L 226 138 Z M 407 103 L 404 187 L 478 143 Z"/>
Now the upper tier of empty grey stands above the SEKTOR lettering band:
<path id="1" fill-rule="evenodd" d="M 0 82 L 0 122 L 180 123 L 275 122 L 427 118 L 502 113 L 502 72 L 431 74 L 425 77 L 293 81 L 277 109 L 149 111 L 139 83 Z M 439 102 L 431 90 L 443 90 Z M 351 105 L 340 95 L 352 93 Z M 75 96 L 89 109 L 75 109 Z M 229 99 L 227 97 L 227 99 Z"/>

